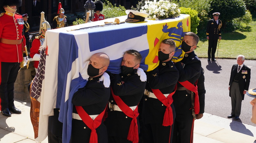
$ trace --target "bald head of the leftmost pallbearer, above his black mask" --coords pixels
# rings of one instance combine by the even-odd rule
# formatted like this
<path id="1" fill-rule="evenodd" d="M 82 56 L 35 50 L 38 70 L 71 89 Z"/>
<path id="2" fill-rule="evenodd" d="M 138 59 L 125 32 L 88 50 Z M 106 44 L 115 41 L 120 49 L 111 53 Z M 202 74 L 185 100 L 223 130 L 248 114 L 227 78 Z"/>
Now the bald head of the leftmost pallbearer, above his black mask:
<path id="1" fill-rule="evenodd" d="M 90 58 L 90 63 L 94 68 L 99 69 L 99 73 L 96 73 L 96 76 L 90 77 L 97 77 L 102 75 L 109 66 L 110 60 L 107 54 L 105 53 L 95 53 Z"/>

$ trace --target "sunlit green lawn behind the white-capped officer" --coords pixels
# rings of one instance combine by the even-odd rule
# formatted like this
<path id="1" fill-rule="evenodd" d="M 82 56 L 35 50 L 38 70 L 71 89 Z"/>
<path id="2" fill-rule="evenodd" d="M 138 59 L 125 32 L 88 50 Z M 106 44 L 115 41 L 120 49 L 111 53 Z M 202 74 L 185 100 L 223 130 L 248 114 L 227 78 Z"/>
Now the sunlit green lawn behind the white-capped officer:
<path id="1" fill-rule="evenodd" d="M 200 39 L 195 53 L 198 57 L 207 58 L 208 40 Z M 215 58 L 217 58 L 217 50 Z M 238 55 L 244 55 L 245 59 L 256 60 L 256 19 L 243 28 L 230 33 L 222 33 L 219 43 L 218 58 L 236 59 Z"/>

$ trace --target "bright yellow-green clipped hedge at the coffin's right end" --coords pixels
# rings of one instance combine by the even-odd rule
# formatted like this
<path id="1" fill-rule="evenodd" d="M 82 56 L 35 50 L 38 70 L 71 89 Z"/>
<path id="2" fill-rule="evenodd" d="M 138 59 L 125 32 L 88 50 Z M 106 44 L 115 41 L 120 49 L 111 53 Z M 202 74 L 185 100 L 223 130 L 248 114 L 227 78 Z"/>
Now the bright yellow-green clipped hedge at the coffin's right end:
<path id="1" fill-rule="evenodd" d="M 193 10 L 191 8 L 184 8 L 184 7 L 180 7 L 181 10 L 181 14 L 189 14 L 190 15 L 190 21 L 191 21 L 191 32 L 194 32 L 197 34 L 197 26 L 199 25 L 199 17 L 198 12 L 196 10 Z"/>

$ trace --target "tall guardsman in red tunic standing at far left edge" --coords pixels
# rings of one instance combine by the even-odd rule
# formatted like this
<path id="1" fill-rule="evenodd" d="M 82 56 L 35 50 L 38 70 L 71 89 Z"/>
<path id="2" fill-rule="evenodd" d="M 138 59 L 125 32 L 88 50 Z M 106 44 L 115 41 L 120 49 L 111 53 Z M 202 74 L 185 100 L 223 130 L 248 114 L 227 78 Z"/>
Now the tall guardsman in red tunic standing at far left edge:
<path id="1" fill-rule="evenodd" d="M 14 106 L 14 82 L 20 62 L 27 63 L 24 53 L 26 40 L 23 36 L 23 18 L 15 13 L 22 0 L 1 0 L 0 11 L 0 101 L 2 114 L 10 117 L 11 112 L 20 114 Z M 11 111 L 11 112 L 10 112 Z"/>

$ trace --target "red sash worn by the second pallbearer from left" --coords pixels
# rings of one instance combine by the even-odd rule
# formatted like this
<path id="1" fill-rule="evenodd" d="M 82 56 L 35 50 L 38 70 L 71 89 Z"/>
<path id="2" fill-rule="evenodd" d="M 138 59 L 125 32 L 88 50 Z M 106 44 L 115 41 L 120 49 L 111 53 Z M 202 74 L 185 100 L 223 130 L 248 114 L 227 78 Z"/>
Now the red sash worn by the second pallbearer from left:
<path id="1" fill-rule="evenodd" d="M 138 131 L 138 123 L 137 123 L 137 117 L 139 116 L 138 105 L 136 109 L 133 111 L 129 106 L 127 106 L 122 101 L 122 99 L 119 96 L 114 94 L 112 88 L 111 88 L 111 93 L 113 95 L 114 100 L 117 103 L 117 106 L 123 111 L 123 113 L 126 116 L 132 118 L 127 139 L 132 141 L 133 143 L 138 143 L 139 142 L 139 131 Z"/>

